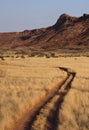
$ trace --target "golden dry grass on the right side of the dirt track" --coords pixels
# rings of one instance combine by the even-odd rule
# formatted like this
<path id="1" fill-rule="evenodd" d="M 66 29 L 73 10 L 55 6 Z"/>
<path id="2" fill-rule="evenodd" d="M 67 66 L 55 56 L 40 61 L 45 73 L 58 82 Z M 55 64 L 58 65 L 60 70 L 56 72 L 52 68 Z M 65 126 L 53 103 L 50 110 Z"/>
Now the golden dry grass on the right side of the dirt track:
<path id="1" fill-rule="evenodd" d="M 73 58 L 69 63 L 65 65 L 77 75 L 59 110 L 58 130 L 89 130 L 89 58 Z"/>

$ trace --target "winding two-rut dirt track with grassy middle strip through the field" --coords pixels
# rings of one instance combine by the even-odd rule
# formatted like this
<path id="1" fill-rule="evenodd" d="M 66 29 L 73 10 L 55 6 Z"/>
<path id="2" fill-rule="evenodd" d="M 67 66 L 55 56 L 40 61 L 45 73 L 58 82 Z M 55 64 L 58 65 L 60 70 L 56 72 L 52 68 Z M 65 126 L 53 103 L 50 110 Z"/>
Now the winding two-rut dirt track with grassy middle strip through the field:
<path id="1" fill-rule="evenodd" d="M 71 88 L 76 73 L 68 68 L 59 67 L 67 73 L 67 77 L 52 90 L 34 111 L 27 115 L 23 130 L 57 130 L 58 113 L 64 96 Z"/>

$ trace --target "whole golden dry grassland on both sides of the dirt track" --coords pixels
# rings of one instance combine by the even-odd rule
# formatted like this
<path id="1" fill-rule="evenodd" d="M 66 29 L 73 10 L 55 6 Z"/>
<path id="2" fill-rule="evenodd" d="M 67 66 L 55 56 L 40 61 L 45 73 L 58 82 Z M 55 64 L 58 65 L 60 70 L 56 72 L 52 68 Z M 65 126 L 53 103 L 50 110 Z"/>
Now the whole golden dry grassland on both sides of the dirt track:
<path id="1" fill-rule="evenodd" d="M 89 58 L 6 58 L 0 61 L 0 130 L 10 130 L 71 68 L 76 77 L 58 115 L 58 130 L 89 129 Z"/>

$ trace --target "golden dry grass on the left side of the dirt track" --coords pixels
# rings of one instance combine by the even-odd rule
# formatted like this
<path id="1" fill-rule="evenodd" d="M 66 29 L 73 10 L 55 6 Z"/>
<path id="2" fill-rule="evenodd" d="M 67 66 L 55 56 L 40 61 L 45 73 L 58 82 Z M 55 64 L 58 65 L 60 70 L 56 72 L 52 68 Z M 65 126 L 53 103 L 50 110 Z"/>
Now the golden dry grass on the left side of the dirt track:
<path id="1" fill-rule="evenodd" d="M 66 73 L 44 59 L 0 61 L 0 130 L 9 130 L 32 111 Z"/>

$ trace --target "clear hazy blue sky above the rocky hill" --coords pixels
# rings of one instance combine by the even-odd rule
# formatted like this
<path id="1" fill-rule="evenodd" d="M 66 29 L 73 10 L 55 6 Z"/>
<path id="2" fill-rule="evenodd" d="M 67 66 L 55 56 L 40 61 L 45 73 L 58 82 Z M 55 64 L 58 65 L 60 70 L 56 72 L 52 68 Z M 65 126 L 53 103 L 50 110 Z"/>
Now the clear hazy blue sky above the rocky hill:
<path id="1" fill-rule="evenodd" d="M 89 0 L 0 0 L 0 32 L 47 27 L 62 13 L 89 13 Z"/>

